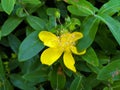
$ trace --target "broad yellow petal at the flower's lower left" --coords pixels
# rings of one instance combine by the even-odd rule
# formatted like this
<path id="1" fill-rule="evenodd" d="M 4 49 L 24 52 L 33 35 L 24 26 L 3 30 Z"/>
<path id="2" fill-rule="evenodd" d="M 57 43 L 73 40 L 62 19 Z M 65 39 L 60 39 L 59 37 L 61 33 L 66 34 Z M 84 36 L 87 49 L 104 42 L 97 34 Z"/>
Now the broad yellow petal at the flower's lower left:
<path id="1" fill-rule="evenodd" d="M 62 52 L 63 51 L 59 50 L 58 48 L 46 49 L 41 55 L 42 64 L 52 65 L 62 55 Z"/>

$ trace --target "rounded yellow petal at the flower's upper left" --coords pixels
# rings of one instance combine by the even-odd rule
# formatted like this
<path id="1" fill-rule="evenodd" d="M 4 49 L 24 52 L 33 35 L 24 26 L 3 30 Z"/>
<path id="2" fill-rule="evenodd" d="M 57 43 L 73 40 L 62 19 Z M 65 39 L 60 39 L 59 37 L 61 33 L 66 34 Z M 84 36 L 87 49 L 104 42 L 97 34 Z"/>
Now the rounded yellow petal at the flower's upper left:
<path id="1" fill-rule="evenodd" d="M 56 47 L 59 42 L 58 37 L 55 34 L 48 31 L 41 31 L 39 33 L 39 39 L 43 41 L 44 45 L 48 47 Z"/>

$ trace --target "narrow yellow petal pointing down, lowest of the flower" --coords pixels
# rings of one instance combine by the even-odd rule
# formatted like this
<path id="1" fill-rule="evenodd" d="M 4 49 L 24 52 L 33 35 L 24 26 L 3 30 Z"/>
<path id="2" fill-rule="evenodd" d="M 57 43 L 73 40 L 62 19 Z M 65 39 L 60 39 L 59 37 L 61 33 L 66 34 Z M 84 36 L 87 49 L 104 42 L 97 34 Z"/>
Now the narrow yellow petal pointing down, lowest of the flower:
<path id="1" fill-rule="evenodd" d="M 73 72 L 76 72 L 76 69 L 75 69 L 75 61 L 74 61 L 74 58 L 72 56 L 72 53 L 70 51 L 65 51 L 64 55 L 63 55 L 63 61 L 64 61 L 64 64 L 65 66 L 72 70 Z"/>

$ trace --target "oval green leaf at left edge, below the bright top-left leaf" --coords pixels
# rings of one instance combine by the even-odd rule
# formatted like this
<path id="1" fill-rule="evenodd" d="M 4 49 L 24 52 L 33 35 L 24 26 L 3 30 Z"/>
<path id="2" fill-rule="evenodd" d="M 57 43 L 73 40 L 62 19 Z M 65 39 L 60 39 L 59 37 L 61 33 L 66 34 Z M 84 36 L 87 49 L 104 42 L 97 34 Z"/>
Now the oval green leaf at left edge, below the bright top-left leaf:
<path id="1" fill-rule="evenodd" d="M 10 17 L 8 18 L 1 28 L 2 36 L 7 36 L 22 22 L 22 18 Z"/>

